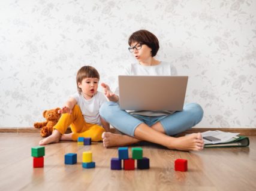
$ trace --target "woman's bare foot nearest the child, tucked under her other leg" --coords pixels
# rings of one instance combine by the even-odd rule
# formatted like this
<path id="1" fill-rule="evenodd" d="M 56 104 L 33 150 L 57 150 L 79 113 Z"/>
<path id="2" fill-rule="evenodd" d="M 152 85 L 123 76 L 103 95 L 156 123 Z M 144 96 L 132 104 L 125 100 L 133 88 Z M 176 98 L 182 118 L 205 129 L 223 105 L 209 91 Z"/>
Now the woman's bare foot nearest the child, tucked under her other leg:
<path id="1" fill-rule="evenodd" d="M 130 137 L 128 135 L 121 135 L 121 134 L 115 134 L 110 132 L 104 132 L 102 134 L 102 138 L 103 138 L 103 146 L 106 148 L 113 147 L 113 146 L 125 146 L 128 144 L 133 144 L 140 141 L 137 138 Z"/>

